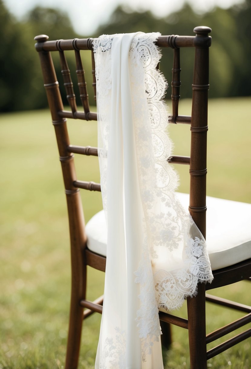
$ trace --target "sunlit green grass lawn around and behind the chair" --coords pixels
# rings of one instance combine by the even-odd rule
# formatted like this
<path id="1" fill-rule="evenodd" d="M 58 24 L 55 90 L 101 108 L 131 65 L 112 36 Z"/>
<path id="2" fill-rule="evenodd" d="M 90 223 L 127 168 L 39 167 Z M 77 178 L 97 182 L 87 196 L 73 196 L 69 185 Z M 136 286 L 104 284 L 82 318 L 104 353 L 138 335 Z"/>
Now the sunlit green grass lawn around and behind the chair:
<path id="1" fill-rule="evenodd" d="M 181 101 L 180 114 L 190 114 L 189 104 L 189 100 Z M 209 102 L 207 192 L 211 196 L 251 202 L 250 115 L 250 98 Z M 70 251 L 66 201 L 49 111 L 2 114 L 0 131 L 0 369 L 63 368 Z M 189 127 L 172 126 L 170 134 L 176 142 L 174 154 L 189 155 Z M 70 136 L 73 144 L 96 145 L 96 123 L 71 122 Z M 98 181 L 97 158 L 77 159 L 79 179 Z M 180 190 L 187 192 L 188 167 L 177 169 Z M 97 193 L 91 193 L 90 199 L 86 195 L 83 191 L 88 221 L 102 207 L 102 200 Z M 93 299 L 102 293 L 103 273 L 90 270 L 88 283 L 88 298 Z M 247 287 L 248 282 L 225 287 L 224 295 L 238 296 L 251 304 Z M 241 316 L 210 304 L 207 311 L 208 331 Z M 185 316 L 185 307 L 180 314 Z M 84 323 L 81 369 L 94 367 L 99 324 L 98 314 Z M 165 354 L 165 368 L 189 368 L 187 332 L 174 328 L 173 339 L 172 350 Z M 208 368 L 248 369 L 250 352 L 248 339 L 209 360 Z"/>

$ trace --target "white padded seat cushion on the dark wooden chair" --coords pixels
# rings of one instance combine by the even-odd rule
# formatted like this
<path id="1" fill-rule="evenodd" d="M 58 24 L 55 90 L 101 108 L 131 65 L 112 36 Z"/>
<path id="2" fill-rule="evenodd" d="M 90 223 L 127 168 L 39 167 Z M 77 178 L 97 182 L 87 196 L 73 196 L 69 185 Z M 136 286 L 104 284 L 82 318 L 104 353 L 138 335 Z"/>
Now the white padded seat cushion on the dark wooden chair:
<path id="1" fill-rule="evenodd" d="M 184 208 L 189 195 L 178 193 Z M 251 258 L 251 204 L 206 198 L 206 244 L 212 270 L 225 268 Z M 106 256 L 107 230 L 104 211 L 86 224 L 87 247 Z"/>

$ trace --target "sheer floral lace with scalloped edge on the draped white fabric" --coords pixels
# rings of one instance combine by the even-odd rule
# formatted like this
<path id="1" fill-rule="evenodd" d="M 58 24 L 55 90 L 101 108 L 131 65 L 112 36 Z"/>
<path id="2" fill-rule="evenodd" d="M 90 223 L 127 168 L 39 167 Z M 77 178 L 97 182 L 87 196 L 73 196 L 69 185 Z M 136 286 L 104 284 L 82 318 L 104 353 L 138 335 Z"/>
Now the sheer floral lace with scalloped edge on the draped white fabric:
<path id="1" fill-rule="evenodd" d="M 109 119 L 114 108 L 111 92 L 111 54 L 115 36 L 103 35 L 93 42 L 99 120 L 100 182 L 105 211 L 107 154 L 109 155 L 109 145 L 113 144 L 110 142 Z M 135 283 L 140 291 L 135 320 L 141 339 L 142 363 L 152 354 L 154 342 L 159 342 L 158 308 L 173 310 L 180 307 L 187 296 L 196 294 L 198 282 L 211 282 L 213 278 L 205 240 L 174 192 L 178 186 L 178 175 L 168 162 L 168 158 L 172 156 L 173 144 L 167 134 L 168 116 L 163 100 L 167 82 L 156 69 L 161 58 L 155 45 L 158 36 L 158 33 L 136 34 L 128 56 L 142 206 L 141 256 L 137 270 L 134 271 Z M 109 222 L 107 230 L 109 232 Z M 116 328 L 116 331 L 123 330 Z M 103 366 L 99 363 L 97 368 L 125 368 L 121 354 L 124 352 L 125 355 L 125 351 L 120 347 L 122 340 L 115 344 L 119 335 L 113 337 L 106 337 L 107 344 L 103 345 L 102 354 L 105 355 Z M 126 342 L 125 332 L 123 337 L 123 342 Z M 113 359 L 110 359 L 112 356 Z M 114 356 L 117 357 L 116 360 Z M 106 366 L 108 362 L 110 366 Z"/>

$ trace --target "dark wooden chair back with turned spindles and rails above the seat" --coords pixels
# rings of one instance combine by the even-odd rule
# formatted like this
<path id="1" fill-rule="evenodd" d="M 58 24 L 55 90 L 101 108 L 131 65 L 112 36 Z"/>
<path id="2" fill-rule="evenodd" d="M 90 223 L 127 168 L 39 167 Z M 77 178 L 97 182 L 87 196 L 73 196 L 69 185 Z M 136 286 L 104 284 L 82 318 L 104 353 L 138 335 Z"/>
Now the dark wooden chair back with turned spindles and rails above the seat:
<path id="1" fill-rule="evenodd" d="M 209 46 L 211 45 L 211 32 L 209 27 L 196 27 L 195 36 L 160 36 L 156 44 L 160 48 L 173 49 L 172 68 L 172 124 L 191 125 L 191 157 L 173 156 L 172 163 L 190 165 L 190 206 L 189 210 L 202 234 L 205 235 L 205 212 L 206 212 L 206 132 L 207 106 L 209 89 Z M 69 39 L 48 41 L 46 35 L 35 37 L 35 47 L 39 52 L 44 86 L 52 114 L 59 147 L 60 161 L 62 163 L 63 177 L 67 196 L 71 196 L 79 188 L 100 191 L 100 185 L 93 182 L 77 180 L 74 169 L 73 154 L 97 156 L 97 148 L 71 145 L 66 127 L 67 118 L 81 120 L 97 120 L 97 114 L 90 111 L 87 86 L 85 82 L 85 71 L 82 65 L 81 50 L 88 50 L 92 59 L 93 93 L 96 95 L 95 61 L 92 50 L 92 39 Z M 191 116 L 178 114 L 178 103 L 180 99 L 180 48 L 194 48 L 194 76 L 192 83 L 192 113 Z M 75 92 L 68 68 L 65 51 L 73 51 L 76 60 L 76 74 L 79 97 L 82 102 L 83 111 L 77 109 Z M 66 90 L 69 110 L 64 110 L 59 83 L 53 65 L 51 52 L 58 52 L 60 57 L 63 84 Z M 66 164 L 67 163 L 67 164 Z"/>

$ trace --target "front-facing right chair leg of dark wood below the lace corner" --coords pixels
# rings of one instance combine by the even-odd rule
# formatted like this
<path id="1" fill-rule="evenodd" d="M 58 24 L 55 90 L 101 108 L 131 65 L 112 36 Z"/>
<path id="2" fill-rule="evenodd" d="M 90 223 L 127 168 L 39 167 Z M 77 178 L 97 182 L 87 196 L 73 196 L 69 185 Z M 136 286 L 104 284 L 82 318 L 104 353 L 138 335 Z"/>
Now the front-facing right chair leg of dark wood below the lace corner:
<path id="1" fill-rule="evenodd" d="M 206 369 L 205 284 L 198 284 L 198 294 L 187 298 L 188 336 L 191 369 Z"/>

